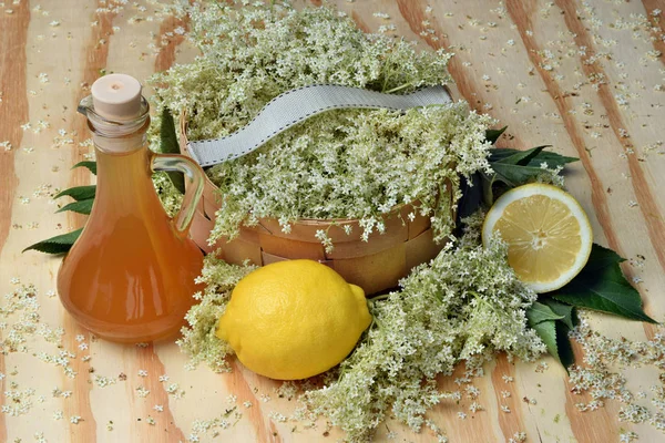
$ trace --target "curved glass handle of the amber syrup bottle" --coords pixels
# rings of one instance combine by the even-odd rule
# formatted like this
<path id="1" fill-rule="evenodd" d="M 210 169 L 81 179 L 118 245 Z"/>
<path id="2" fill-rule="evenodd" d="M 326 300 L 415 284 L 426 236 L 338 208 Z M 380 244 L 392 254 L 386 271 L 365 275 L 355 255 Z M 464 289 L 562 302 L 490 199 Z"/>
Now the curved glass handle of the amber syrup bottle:
<path id="1" fill-rule="evenodd" d="M 181 209 L 173 217 L 177 231 L 186 236 L 192 226 L 196 205 L 203 195 L 205 173 L 192 158 L 180 154 L 153 154 L 152 171 L 178 172 L 185 176 L 185 197 Z"/>

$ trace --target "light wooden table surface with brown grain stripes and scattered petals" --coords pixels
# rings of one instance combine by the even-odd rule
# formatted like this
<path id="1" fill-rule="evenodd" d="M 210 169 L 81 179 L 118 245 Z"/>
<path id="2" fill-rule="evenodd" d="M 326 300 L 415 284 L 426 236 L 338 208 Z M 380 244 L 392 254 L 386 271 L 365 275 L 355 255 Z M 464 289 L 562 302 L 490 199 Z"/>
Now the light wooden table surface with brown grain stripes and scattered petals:
<path id="1" fill-rule="evenodd" d="M 89 133 L 75 109 L 102 70 L 145 79 L 194 54 L 173 33 L 186 23 L 161 17 L 154 2 L 122 3 L 0 2 L 0 292 L 34 284 L 40 323 L 64 328 L 61 347 L 34 334 L 27 352 L 0 356 L 0 403 L 23 406 L 17 416 L 0 413 L 0 442 L 184 442 L 196 435 L 202 442 L 335 441 L 341 433 L 328 431 L 325 421 L 310 430 L 283 422 L 295 400 L 280 399 L 279 383 L 235 363 L 228 374 L 205 367 L 187 371 L 185 356 L 173 343 L 140 348 L 94 340 L 53 297 L 60 258 L 21 254 L 29 244 L 84 222 L 82 216 L 54 215 L 51 196 L 91 181 L 84 171 L 70 171 L 91 152 L 80 145 Z M 665 2 L 336 3 L 366 31 L 387 25 L 388 32 L 418 40 L 426 50 L 450 47 L 457 54 L 450 63 L 454 96 L 509 125 L 500 144 L 551 144 L 580 157 L 567 185 L 589 213 L 595 240 L 631 259 L 624 270 L 636 281 L 646 311 L 664 318 L 665 41 L 652 11 L 665 10 Z M 636 262 L 641 266 L 631 265 Z M 11 326 L 16 318 L 0 321 Z M 606 316 L 594 315 L 592 323 L 611 337 L 644 340 L 654 334 L 645 324 Z M 6 338 L 7 331 L 0 334 Z M 61 351 L 71 352 L 64 360 L 75 377 L 68 378 L 62 359 L 54 359 Z M 44 356 L 54 358 L 49 362 Z M 500 357 L 474 381 L 483 411 L 460 420 L 458 412 L 468 412 L 470 403 L 463 399 L 442 403 L 430 416 L 452 442 L 501 442 L 521 431 L 531 442 L 614 442 L 621 429 L 634 430 L 640 441 L 664 441 L 648 424 L 621 423 L 616 403 L 579 412 L 574 404 L 583 398 L 570 392 L 563 369 L 550 358 L 543 361 L 549 369 L 536 372 L 534 364 L 512 364 Z M 503 375 L 514 382 L 505 383 Z M 636 390 L 647 390 L 656 380 L 655 371 L 628 374 Z M 454 388 L 452 378 L 440 384 Z M 20 401 L 9 391 L 19 391 Z M 511 396 L 504 399 L 501 391 Z M 502 412 L 501 405 L 511 412 Z M 196 420 L 215 418 L 229 422 L 227 429 L 217 422 L 218 436 L 195 432 Z M 377 441 L 387 440 L 388 427 L 398 433 L 395 441 L 433 440 L 427 431 L 413 434 L 389 423 L 379 427 Z"/>

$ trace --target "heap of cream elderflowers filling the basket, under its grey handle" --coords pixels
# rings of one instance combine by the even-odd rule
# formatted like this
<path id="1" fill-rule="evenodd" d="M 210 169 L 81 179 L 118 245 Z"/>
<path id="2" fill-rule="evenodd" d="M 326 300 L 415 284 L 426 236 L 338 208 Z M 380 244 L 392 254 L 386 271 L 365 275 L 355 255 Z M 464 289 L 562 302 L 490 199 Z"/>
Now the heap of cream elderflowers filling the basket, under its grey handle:
<path id="1" fill-rule="evenodd" d="M 158 109 L 186 112 L 191 140 L 228 135 L 298 86 L 332 83 L 408 93 L 450 82 L 451 54 L 368 35 L 331 8 L 295 10 L 282 1 L 236 7 L 182 6 L 202 55 L 152 79 Z M 383 216 L 396 205 L 415 200 L 440 240 L 453 228 L 460 175 L 490 171 L 484 133 L 492 124 L 462 102 L 311 117 L 207 171 L 224 196 L 209 241 L 233 238 L 241 225 L 263 217 L 278 219 L 285 231 L 298 218 L 357 218 L 367 239 L 382 231 Z M 440 198 L 449 193 L 452 198 Z"/>

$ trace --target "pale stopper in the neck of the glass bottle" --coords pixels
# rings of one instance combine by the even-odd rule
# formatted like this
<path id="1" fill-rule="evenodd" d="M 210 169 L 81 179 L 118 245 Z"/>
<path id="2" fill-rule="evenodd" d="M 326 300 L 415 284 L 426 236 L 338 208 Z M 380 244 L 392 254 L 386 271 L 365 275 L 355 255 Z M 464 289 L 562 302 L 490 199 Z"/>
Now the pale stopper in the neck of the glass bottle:
<path id="1" fill-rule="evenodd" d="M 104 75 L 91 92 L 94 112 L 103 119 L 122 122 L 141 115 L 141 83 L 131 75 Z"/>

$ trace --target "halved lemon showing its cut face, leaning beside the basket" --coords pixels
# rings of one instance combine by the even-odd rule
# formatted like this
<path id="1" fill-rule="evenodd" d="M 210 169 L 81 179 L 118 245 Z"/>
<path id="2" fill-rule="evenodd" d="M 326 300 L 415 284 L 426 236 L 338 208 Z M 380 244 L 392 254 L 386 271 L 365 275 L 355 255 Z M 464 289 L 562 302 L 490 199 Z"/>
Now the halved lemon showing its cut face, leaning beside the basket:
<path id="1" fill-rule="evenodd" d="M 508 262 L 525 285 L 549 292 L 571 281 L 586 265 L 593 234 L 575 198 L 555 186 L 530 184 L 503 194 L 482 226 L 487 246 L 499 233 Z"/>

